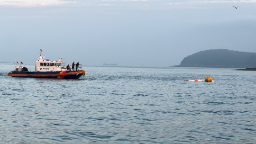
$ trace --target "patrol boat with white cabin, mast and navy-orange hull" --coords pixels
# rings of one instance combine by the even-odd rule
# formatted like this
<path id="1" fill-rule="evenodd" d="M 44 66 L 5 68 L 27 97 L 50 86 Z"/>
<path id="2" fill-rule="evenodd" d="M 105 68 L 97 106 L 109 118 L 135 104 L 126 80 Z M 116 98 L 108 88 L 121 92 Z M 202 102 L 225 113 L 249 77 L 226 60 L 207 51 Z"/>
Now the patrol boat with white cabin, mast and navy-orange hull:
<path id="1" fill-rule="evenodd" d="M 82 70 L 82 65 L 72 71 L 68 68 L 61 67 L 63 63 L 62 58 L 58 61 L 50 61 L 42 57 L 42 49 L 40 49 L 40 57 L 36 61 L 35 72 L 30 72 L 25 66 L 15 66 L 14 70 L 8 73 L 10 77 L 27 77 L 27 78 L 57 78 L 57 79 L 79 79 L 82 75 L 85 75 L 85 71 Z"/>

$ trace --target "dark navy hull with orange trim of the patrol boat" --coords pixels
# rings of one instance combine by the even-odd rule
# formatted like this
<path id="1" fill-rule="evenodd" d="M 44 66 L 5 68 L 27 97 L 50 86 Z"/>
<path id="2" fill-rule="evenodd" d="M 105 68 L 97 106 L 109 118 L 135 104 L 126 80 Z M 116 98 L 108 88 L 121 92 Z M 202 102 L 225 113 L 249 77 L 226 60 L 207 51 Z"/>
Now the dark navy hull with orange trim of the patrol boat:
<path id="1" fill-rule="evenodd" d="M 85 71 L 64 71 L 64 72 L 17 72 L 8 73 L 10 77 L 27 78 L 56 78 L 56 79 L 79 79 L 85 75 Z"/>

